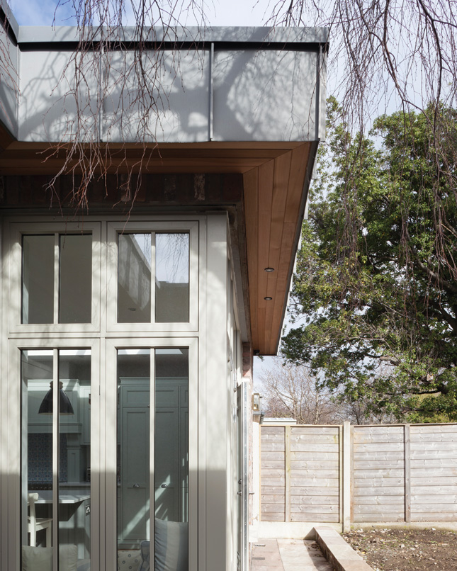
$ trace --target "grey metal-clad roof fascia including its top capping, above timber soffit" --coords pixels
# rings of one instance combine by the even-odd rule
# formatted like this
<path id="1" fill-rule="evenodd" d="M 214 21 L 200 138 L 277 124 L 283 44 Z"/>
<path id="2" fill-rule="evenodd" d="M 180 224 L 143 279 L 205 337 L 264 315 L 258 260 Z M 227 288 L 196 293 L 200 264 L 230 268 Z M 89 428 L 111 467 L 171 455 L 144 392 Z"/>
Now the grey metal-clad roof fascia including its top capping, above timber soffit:
<path id="1" fill-rule="evenodd" d="M 73 140 L 76 115 L 82 112 L 81 142 L 137 142 L 141 110 L 135 103 L 131 49 L 136 34 L 135 28 L 125 28 L 113 37 L 113 45 L 120 42 L 115 52 L 101 58 L 96 51 L 84 55 L 84 81 L 75 98 L 74 65 L 67 64 L 78 45 L 77 30 L 11 26 L 9 38 L 2 39 L 11 53 L 9 75 L 17 84 L 9 86 L 8 94 L 0 92 L 6 129 L 20 141 Z M 142 38 L 157 90 L 142 96 L 146 105 L 151 103 L 154 119 L 141 142 L 323 137 L 327 30 L 187 28 L 163 35 L 159 29 Z M 91 43 L 97 40 L 94 35 Z M 162 44 L 156 52 L 157 43 Z M 126 109 L 122 118 L 117 116 Z M 94 113 L 101 114 L 97 132 Z"/>

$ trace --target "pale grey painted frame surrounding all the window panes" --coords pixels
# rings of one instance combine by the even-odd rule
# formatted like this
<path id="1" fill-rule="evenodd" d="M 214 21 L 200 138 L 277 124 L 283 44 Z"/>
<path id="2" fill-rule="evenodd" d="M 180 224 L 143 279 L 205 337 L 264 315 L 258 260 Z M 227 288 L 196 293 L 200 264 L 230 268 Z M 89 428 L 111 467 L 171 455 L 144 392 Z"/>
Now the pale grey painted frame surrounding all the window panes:
<path id="1" fill-rule="evenodd" d="M 215 215 L 212 225 L 220 225 L 219 220 L 216 222 L 217 218 L 225 220 L 225 215 Z M 169 217 L 169 220 L 164 220 L 163 216 L 147 217 L 147 220 L 144 217 L 132 217 L 132 222 L 128 223 L 120 217 L 103 215 L 84 222 L 68 223 L 55 222 L 51 217 L 39 215 L 30 217 L 30 220 L 26 217 L 11 217 L 4 220 L 2 232 L 4 255 L 1 266 L 4 284 L 1 342 L 4 346 L 4 358 L 1 362 L 1 371 L 5 382 L 0 387 L 0 394 L 3 397 L 0 434 L 7 435 L 7 440 L 0 441 L 0 454 L 1 465 L 7 466 L 9 471 L 8 477 L 0 482 L 1 524 L 4 530 L 0 538 L 3 548 L 0 553 L 2 568 L 4 566 L 12 571 L 19 571 L 20 568 L 22 427 L 18 422 L 18 412 L 21 410 L 21 351 L 91 349 L 91 383 L 94 388 L 91 407 L 91 544 L 93 545 L 91 560 L 94 568 L 108 570 L 115 568 L 113 558 L 115 558 L 116 541 L 116 521 L 114 517 L 108 516 L 110 509 L 113 510 L 115 506 L 113 492 L 116 490 L 116 469 L 110 464 L 113 458 L 115 459 L 115 454 L 109 448 L 115 442 L 113 426 L 115 427 L 116 420 L 116 406 L 113 403 L 109 404 L 110 399 L 116 395 L 116 391 L 113 391 L 108 383 L 110 378 L 108 375 L 113 375 L 111 382 L 115 379 L 115 371 L 111 368 L 115 366 L 116 360 L 113 359 L 111 351 L 130 347 L 159 349 L 173 346 L 186 347 L 189 350 L 189 571 L 201 571 L 205 567 L 203 560 L 201 565 L 198 565 L 198 550 L 203 549 L 205 543 L 203 528 L 206 518 L 202 510 L 205 502 L 205 477 L 202 477 L 202 470 L 206 469 L 208 458 L 203 451 L 206 437 L 203 436 L 203 441 L 198 446 L 198 434 L 202 431 L 202 426 L 203 429 L 206 426 L 205 399 L 202 397 L 199 385 L 199 383 L 205 385 L 206 373 L 201 361 L 202 348 L 200 346 L 199 349 L 198 339 L 202 334 L 199 327 L 203 327 L 203 334 L 206 334 L 207 325 L 199 324 L 202 321 L 201 316 L 205 315 L 205 308 L 199 305 L 199 298 L 200 295 L 206 295 L 202 282 L 208 278 L 207 264 L 208 259 L 215 255 L 213 250 L 218 251 L 219 257 L 218 244 L 214 245 L 211 249 L 212 254 L 208 256 L 207 225 L 206 215 L 178 215 Z M 115 323 L 112 329 L 106 327 L 107 322 L 117 319 L 117 298 L 109 295 L 111 289 L 108 285 L 113 279 L 117 283 L 117 247 L 113 246 L 115 246 L 116 232 L 123 228 L 139 232 L 157 230 L 189 233 L 188 323 Z M 93 235 L 92 323 L 21 324 L 23 234 L 79 233 L 81 229 Z M 109 232 L 113 232 L 111 238 L 114 237 L 114 240 L 107 239 Z M 225 232 L 224 226 L 222 232 L 218 230 L 218 237 L 221 239 L 225 237 Z M 107 303 L 104 301 L 106 298 Z M 113 303 L 115 307 L 112 310 L 110 304 Z M 108 312 L 111 312 L 110 320 L 106 317 Z M 213 315 L 212 320 L 222 317 L 224 317 L 223 311 L 220 315 L 219 313 Z M 203 407 L 203 418 L 198 416 L 199 406 Z M 200 470 L 200 480 L 198 470 Z"/>

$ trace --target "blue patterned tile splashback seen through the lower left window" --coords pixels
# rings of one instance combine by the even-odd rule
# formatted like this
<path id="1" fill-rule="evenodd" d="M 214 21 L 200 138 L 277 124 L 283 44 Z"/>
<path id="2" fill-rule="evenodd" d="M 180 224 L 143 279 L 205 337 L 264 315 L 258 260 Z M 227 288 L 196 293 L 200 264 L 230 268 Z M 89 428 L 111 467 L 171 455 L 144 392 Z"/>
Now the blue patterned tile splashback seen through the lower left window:
<path id="1" fill-rule="evenodd" d="M 60 434 L 59 481 L 67 482 L 67 436 Z M 28 435 L 28 481 L 52 482 L 52 434 Z"/>

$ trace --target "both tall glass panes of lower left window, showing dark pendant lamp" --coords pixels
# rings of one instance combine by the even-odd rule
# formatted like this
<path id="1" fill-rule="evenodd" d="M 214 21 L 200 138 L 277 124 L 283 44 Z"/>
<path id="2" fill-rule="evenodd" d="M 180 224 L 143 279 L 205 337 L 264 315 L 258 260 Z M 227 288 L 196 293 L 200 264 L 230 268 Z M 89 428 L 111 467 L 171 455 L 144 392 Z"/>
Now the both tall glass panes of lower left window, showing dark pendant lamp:
<path id="1" fill-rule="evenodd" d="M 60 569 L 90 562 L 90 390 L 91 355 L 87 349 L 58 351 L 59 383 L 73 414 L 60 414 L 58 434 L 51 409 L 40 406 L 53 378 L 53 351 L 22 351 L 21 536 L 22 569 L 52 570 L 52 533 L 57 526 Z M 56 450 L 53 442 L 57 439 Z M 57 458 L 53 453 L 57 452 Z M 53 460 L 57 473 L 53 474 Z M 53 478 L 54 476 L 54 478 Z M 55 484 L 57 483 L 57 490 Z M 58 498 L 58 518 L 53 502 Z"/>

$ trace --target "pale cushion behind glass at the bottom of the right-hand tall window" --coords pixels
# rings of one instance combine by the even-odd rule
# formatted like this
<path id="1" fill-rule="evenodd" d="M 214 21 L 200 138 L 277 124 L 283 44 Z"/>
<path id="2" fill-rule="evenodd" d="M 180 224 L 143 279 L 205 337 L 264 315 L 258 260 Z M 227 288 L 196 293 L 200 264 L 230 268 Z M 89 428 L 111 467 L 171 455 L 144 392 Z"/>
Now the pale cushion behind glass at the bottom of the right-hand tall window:
<path id="1" fill-rule="evenodd" d="M 142 564 L 149 571 L 149 541 L 141 543 Z M 188 524 L 155 519 L 155 571 L 188 570 Z"/>

